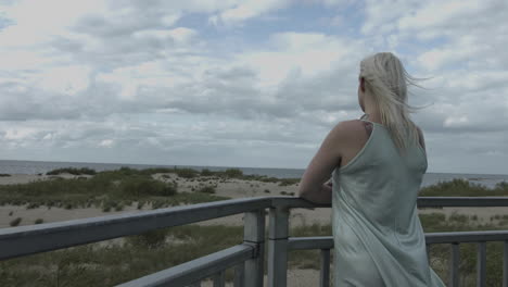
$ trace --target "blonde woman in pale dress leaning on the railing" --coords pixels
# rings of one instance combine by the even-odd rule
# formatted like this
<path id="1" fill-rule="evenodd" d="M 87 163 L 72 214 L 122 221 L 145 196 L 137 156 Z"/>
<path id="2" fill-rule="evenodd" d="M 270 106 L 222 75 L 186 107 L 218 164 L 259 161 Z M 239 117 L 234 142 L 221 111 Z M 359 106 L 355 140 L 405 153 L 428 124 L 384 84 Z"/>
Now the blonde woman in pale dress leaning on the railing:
<path id="1" fill-rule="evenodd" d="M 364 116 L 333 127 L 300 183 L 301 198 L 332 204 L 334 287 L 445 286 L 429 266 L 417 212 L 427 152 L 409 118 L 408 85 L 392 53 L 364 59 Z"/>

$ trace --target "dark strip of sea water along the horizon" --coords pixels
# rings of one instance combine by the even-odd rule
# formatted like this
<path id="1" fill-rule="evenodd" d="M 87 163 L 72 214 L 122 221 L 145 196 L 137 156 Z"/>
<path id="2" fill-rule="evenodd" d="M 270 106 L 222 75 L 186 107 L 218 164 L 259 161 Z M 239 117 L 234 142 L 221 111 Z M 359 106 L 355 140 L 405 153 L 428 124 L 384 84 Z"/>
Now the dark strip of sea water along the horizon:
<path id="1" fill-rule="evenodd" d="M 131 169 L 149 167 L 191 167 L 195 170 L 208 169 L 211 171 L 225 171 L 227 169 L 239 169 L 243 174 L 266 175 L 278 178 L 299 178 L 302 177 L 303 169 L 261 169 L 261 167 L 238 167 L 238 166 L 196 166 L 196 165 L 151 165 L 151 164 L 124 164 L 124 163 L 88 163 L 88 162 L 43 162 L 43 161 L 8 161 L 0 160 L 0 174 L 45 174 L 49 171 L 62 167 L 89 167 L 98 172 L 118 170 L 122 166 Z M 503 180 L 508 182 L 508 175 L 503 174 L 455 174 L 455 173 L 427 173 L 423 176 L 423 186 L 447 182 L 454 178 L 468 179 L 470 183 L 494 187 Z"/>

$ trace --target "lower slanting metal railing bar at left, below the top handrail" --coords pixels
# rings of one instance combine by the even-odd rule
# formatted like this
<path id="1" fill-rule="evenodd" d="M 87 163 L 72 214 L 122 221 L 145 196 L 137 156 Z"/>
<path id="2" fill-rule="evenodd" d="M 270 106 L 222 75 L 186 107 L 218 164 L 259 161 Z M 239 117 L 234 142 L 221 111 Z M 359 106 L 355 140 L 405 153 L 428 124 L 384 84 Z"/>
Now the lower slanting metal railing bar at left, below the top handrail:
<path id="1" fill-rule="evenodd" d="M 213 276 L 255 255 L 251 245 L 237 245 L 180 265 L 152 273 L 116 287 L 186 286 Z"/>

